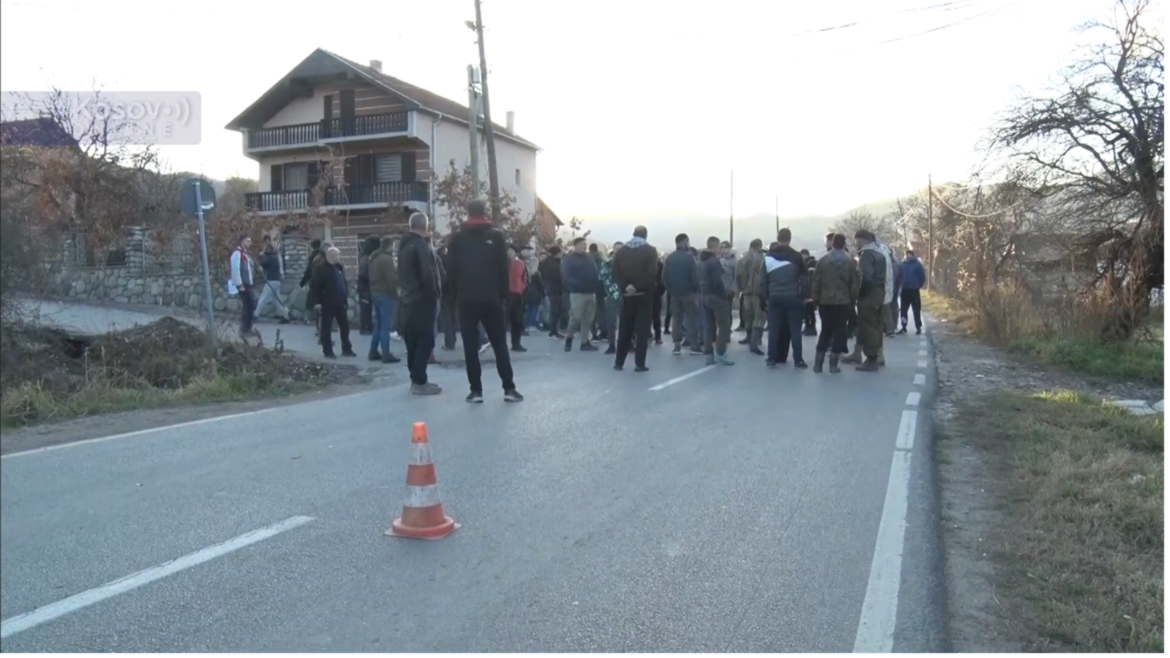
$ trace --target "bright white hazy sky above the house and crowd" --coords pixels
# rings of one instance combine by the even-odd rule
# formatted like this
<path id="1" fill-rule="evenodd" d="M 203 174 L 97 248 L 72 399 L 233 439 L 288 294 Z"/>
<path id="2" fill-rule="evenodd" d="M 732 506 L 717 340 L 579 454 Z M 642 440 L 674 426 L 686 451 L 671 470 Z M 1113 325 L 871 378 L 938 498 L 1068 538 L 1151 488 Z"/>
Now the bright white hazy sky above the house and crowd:
<path id="1" fill-rule="evenodd" d="M 1112 0 L 483 0 L 496 121 L 544 151 L 562 217 L 835 213 L 964 178 L 1012 96 Z M 194 90 L 176 169 L 257 176 L 222 126 L 321 47 L 464 100 L 472 0 L 0 0 L 6 91 Z M 987 14 L 989 15 L 980 15 Z M 945 29 L 928 32 L 955 21 Z M 827 32 L 820 28 L 860 23 Z M 925 34 L 923 34 L 925 33 Z"/>

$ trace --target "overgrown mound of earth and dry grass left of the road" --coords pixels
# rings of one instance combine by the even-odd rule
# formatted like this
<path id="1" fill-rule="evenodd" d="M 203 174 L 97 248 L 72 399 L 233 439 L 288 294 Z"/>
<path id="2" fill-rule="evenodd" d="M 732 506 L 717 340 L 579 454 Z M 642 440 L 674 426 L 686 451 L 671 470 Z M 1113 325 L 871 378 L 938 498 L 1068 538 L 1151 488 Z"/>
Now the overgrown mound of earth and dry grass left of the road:
<path id="1" fill-rule="evenodd" d="M 25 425 L 185 403 L 238 402 L 356 379 L 352 369 L 228 343 L 164 317 L 92 342 L 57 329 L 0 333 L 0 424 Z"/>

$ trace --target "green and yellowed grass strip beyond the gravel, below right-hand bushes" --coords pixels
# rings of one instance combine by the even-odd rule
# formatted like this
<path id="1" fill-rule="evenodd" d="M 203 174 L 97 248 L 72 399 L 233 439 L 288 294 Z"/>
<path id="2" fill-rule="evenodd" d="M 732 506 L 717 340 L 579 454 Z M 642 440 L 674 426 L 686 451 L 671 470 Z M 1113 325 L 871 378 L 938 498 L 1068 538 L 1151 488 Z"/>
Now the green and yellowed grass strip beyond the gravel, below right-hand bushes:
<path id="1" fill-rule="evenodd" d="M 1062 318 L 1059 327 L 1053 327 L 1046 318 L 1035 317 L 1035 308 L 1014 303 L 1011 293 L 998 301 L 999 307 L 984 309 L 980 316 L 958 301 L 930 293 L 923 296 L 924 308 L 934 315 L 1010 351 L 1088 377 L 1165 385 L 1164 324 L 1151 323 L 1133 341 L 1107 343 L 1093 331 L 1080 330 L 1076 318 Z"/>

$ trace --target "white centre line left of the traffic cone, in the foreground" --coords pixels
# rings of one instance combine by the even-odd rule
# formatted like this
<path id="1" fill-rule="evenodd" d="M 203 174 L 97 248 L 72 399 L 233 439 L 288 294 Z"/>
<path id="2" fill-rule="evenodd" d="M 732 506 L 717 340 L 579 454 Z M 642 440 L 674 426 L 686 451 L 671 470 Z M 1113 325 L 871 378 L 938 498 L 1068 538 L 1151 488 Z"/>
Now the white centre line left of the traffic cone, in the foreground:
<path id="1" fill-rule="evenodd" d="M 198 550 L 177 560 L 159 564 L 158 567 L 151 567 L 150 569 L 144 569 L 137 574 L 118 578 L 117 581 L 106 583 L 102 587 L 76 594 L 56 603 L 42 605 L 32 612 L 16 615 L 15 617 L 0 622 L 0 638 L 14 636 L 46 622 L 51 622 L 53 619 L 64 617 L 66 615 L 76 612 L 83 608 L 89 608 L 95 603 L 101 603 L 106 598 L 112 598 L 119 594 L 136 590 L 143 585 L 172 576 L 185 569 L 197 567 L 204 562 L 209 562 L 234 550 L 262 542 L 281 533 L 291 530 L 292 528 L 304 526 L 312 520 L 314 519 L 311 516 L 291 516 L 278 523 L 273 523 L 271 526 L 266 526 L 259 530 L 245 533 L 238 537 L 227 540 L 223 543 L 209 546 L 202 550 Z"/>

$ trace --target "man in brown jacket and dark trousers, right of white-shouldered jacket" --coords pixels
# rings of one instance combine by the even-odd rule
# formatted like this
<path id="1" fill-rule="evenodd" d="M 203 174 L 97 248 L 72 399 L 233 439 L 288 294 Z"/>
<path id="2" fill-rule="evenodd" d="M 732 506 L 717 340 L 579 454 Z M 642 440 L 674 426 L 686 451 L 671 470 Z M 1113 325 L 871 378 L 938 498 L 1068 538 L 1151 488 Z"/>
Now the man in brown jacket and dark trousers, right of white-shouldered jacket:
<path id="1" fill-rule="evenodd" d="M 833 237 L 833 249 L 828 252 L 812 275 L 812 299 L 820 311 L 820 337 L 817 340 L 817 361 L 813 372 L 825 369 L 828 354 L 828 371 L 841 371 L 841 355 L 848 352 L 846 323 L 849 308 L 858 303 L 858 263 L 845 251 L 845 235 Z"/>

